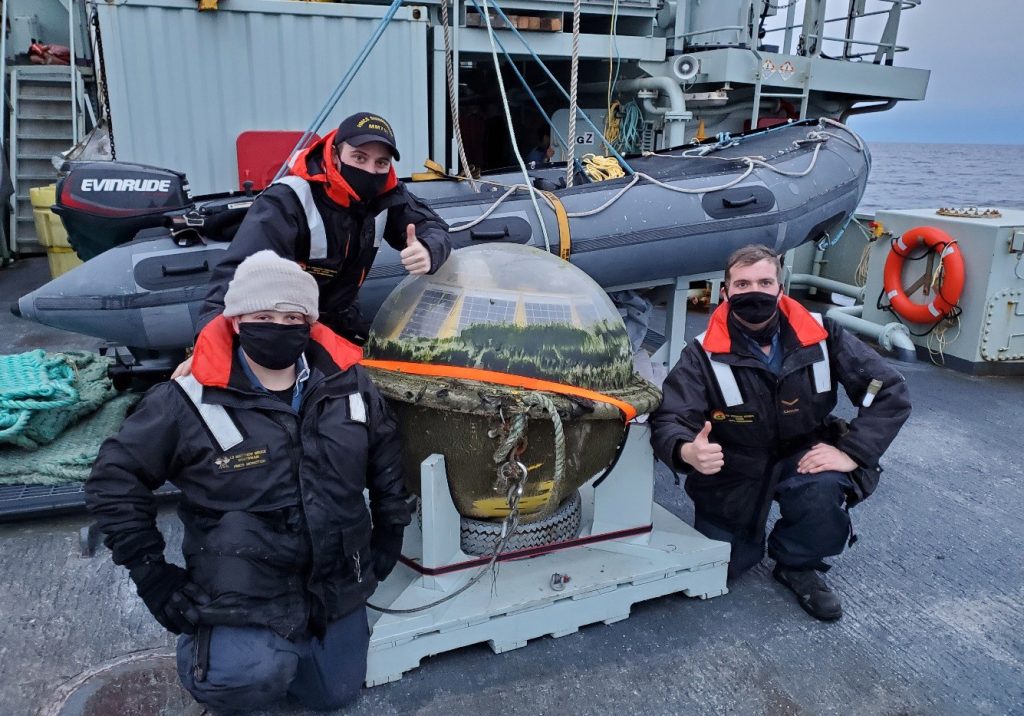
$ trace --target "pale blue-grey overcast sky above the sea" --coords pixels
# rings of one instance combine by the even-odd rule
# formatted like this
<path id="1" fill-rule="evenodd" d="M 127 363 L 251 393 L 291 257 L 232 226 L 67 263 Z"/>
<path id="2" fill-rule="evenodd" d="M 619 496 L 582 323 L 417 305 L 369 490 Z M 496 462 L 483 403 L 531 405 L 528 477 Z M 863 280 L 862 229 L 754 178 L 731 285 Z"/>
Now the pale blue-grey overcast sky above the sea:
<path id="1" fill-rule="evenodd" d="M 854 129 L 873 141 L 1024 143 L 1024 0 L 924 0 L 897 41 L 910 49 L 896 65 L 932 71 L 928 95 L 853 117 Z"/>

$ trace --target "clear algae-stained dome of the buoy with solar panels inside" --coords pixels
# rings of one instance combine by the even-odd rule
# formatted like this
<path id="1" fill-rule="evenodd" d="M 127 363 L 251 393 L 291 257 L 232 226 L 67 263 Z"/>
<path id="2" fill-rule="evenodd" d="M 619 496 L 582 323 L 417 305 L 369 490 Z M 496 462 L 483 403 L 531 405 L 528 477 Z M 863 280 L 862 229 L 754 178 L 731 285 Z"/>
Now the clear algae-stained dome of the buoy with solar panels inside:
<path id="1" fill-rule="evenodd" d="M 590 388 L 633 376 L 626 327 L 601 287 L 517 245 L 460 249 L 433 276 L 406 279 L 378 311 L 366 352 Z"/>

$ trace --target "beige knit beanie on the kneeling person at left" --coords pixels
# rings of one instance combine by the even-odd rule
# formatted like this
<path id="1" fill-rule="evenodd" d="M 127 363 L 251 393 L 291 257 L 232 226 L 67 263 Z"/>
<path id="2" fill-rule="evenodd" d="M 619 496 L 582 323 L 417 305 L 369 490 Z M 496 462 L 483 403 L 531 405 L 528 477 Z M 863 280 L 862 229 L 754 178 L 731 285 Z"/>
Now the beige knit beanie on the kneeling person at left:
<path id="1" fill-rule="evenodd" d="M 261 310 L 296 311 L 311 321 L 319 317 L 316 280 L 295 261 L 269 249 L 257 251 L 239 264 L 224 294 L 224 315 L 245 315 Z"/>

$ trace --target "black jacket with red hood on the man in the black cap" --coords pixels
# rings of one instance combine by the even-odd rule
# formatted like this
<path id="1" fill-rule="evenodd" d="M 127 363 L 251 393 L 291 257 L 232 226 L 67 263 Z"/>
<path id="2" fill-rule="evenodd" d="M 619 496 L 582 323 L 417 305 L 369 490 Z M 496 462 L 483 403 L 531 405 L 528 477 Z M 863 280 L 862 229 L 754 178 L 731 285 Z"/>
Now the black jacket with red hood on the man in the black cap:
<path id="1" fill-rule="evenodd" d="M 319 321 L 339 333 L 359 328 L 353 306 L 378 246 L 376 217 L 387 212 L 383 239 L 395 250 L 406 248 L 406 226 L 416 226 L 417 238 L 430 252 L 430 272 L 436 271 L 452 251 L 447 224 L 426 204 L 410 194 L 391 170 L 385 192 L 368 204 L 352 198 L 348 184 L 325 159 L 334 132 L 304 151 L 292 173 L 309 182 L 313 202 L 327 234 L 327 256 L 310 259 L 310 234 L 306 213 L 291 187 L 271 184 L 253 202 L 242 225 L 210 278 L 200 327 L 224 309 L 224 293 L 234 269 L 248 256 L 270 249 L 300 263 L 319 286 Z M 329 184 L 333 179 L 333 185 Z"/>

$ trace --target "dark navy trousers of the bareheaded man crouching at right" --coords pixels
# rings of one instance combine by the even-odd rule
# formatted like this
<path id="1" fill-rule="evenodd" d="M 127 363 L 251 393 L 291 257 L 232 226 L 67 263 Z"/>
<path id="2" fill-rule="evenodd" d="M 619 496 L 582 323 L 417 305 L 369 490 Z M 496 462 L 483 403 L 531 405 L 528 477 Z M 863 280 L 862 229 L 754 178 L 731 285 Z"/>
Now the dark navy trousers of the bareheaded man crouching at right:
<path id="1" fill-rule="evenodd" d="M 767 539 L 768 556 L 784 566 L 810 568 L 825 557 L 840 554 L 850 538 L 847 492 L 853 481 L 847 472 L 796 472 L 797 458 L 784 461 L 774 494 L 780 517 Z M 761 561 L 765 539 L 733 534 L 701 514 L 695 506 L 693 527 L 713 540 L 732 545 L 729 577 L 738 577 Z M 759 532 L 763 532 L 760 531 Z"/>

